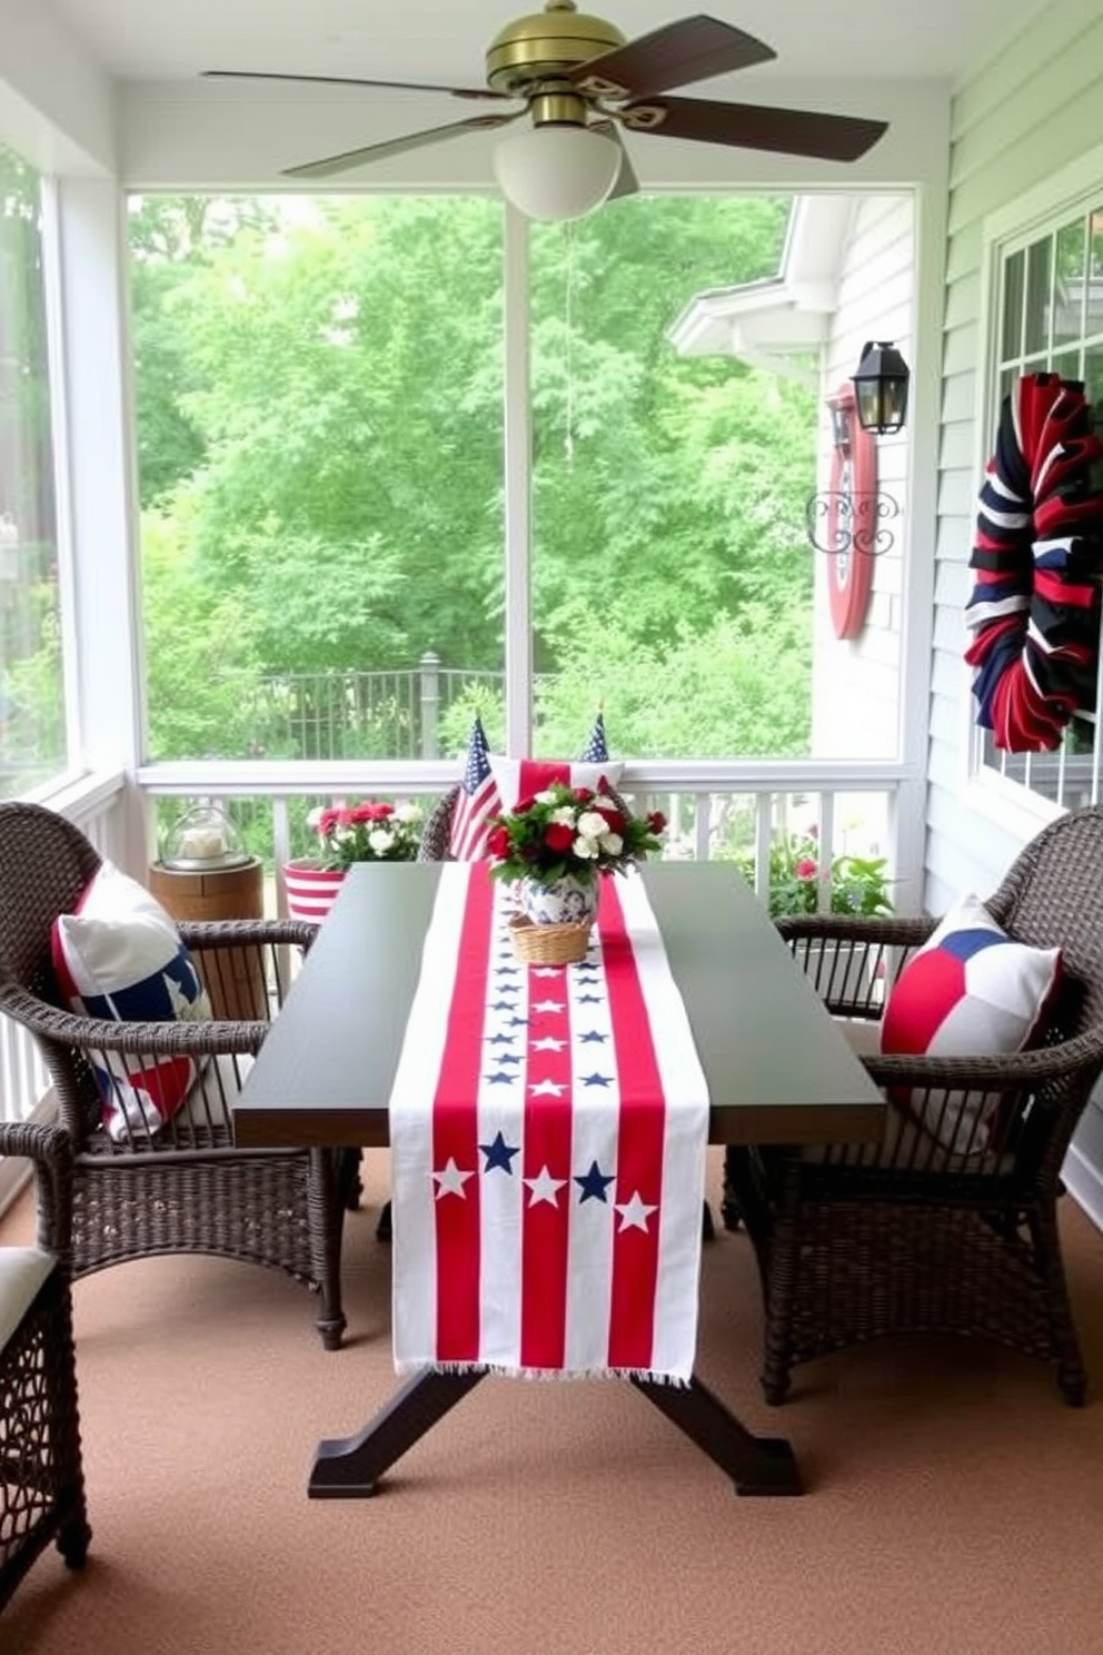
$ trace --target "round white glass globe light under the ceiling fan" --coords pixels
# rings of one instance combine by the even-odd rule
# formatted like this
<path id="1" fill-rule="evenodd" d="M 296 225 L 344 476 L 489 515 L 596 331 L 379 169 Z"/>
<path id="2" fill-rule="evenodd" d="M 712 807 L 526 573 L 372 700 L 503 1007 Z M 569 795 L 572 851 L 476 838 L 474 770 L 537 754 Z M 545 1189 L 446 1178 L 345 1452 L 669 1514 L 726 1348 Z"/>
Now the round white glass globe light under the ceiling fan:
<path id="1" fill-rule="evenodd" d="M 494 149 L 503 195 L 526 218 L 584 218 L 620 175 L 620 144 L 587 126 L 544 122 L 511 132 Z"/>

